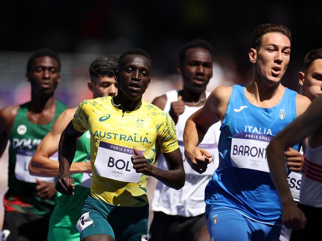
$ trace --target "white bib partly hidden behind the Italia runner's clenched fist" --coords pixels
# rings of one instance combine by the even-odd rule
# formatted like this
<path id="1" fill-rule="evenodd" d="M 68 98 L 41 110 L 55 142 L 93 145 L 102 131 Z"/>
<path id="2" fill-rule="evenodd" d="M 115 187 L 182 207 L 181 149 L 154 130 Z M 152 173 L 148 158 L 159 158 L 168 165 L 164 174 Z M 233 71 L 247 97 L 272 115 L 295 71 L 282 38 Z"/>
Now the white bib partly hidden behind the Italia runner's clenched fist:
<path id="1" fill-rule="evenodd" d="M 183 167 L 184 171 L 187 174 L 199 174 L 197 171 L 191 168 L 190 164 L 188 163 L 186 157 L 184 156 L 184 144 L 183 141 L 178 141 L 178 144 L 180 146 L 180 150 L 182 150 L 182 158 L 183 158 Z M 199 144 L 199 148 L 206 149 L 207 152 L 213 154 L 213 161 L 208 164 L 207 170 L 203 173 L 200 173 L 199 175 L 214 175 L 214 171 L 217 169 L 219 164 L 219 157 L 218 157 L 218 148 L 217 144 Z"/>

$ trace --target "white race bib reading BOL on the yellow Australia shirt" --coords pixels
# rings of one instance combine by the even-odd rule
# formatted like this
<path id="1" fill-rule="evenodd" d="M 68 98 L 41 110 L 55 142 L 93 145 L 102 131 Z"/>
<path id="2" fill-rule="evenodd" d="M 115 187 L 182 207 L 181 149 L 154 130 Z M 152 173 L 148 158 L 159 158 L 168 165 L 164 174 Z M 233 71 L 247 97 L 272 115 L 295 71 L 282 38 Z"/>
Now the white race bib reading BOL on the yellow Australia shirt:
<path id="1" fill-rule="evenodd" d="M 142 151 L 139 153 L 143 155 Z M 133 168 L 131 157 L 134 155 L 132 148 L 101 141 L 94 162 L 96 172 L 101 177 L 137 183 L 142 173 L 137 173 Z"/>

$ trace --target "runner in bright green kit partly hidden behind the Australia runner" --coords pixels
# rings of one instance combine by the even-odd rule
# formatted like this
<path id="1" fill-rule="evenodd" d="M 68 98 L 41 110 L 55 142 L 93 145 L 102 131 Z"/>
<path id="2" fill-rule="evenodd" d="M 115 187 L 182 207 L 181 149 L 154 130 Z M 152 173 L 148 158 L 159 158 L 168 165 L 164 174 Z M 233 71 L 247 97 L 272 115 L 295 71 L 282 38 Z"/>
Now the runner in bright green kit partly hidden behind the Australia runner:
<path id="1" fill-rule="evenodd" d="M 91 80 L 87 84 L 94 98 L 117 93 L 117 83 L 114 80 L 117 63 L 118 60 L 113 56 L 101 56 L 91 64 Z M 73 119 L 76 110 L 77 108 L 68 109 L 57 118 L 30 161 L 30 174 L 54 177 L 58 175 L 59 164 L 50 157 L 58 151 L 60 135 Z M 49 222 L 48 241 L 79 241 L 76 223 L 84 201 L 90 194 L 91 178 L 87 173 L 92 173 L 92 169 L 90 162 L 87 161 L 89 154 L 90 133 L 87 132 L 77 141 L 75 158 L 70 168 L 70 173 L 73 173 L 71 177 L 74 179 L 75 195 L 57 194 L 57 204 Z"/>

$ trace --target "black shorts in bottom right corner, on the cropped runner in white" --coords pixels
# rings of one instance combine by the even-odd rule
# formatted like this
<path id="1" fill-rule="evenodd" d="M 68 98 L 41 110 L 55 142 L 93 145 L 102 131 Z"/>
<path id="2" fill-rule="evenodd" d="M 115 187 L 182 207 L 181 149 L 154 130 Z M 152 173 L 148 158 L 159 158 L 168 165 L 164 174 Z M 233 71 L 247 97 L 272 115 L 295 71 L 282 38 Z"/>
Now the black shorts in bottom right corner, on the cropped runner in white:
<path id="1" fill-rule="evenodd" d="M 307 219 L 304 229 L 293 230 L 291 234 L 291 241 L 311 240 L 311 237 L 320 240 L 321 236 L 321 216 L 322 208 L 311 207 L 303 204 L 298 204 L 298 207 L 304 212 Z"/>

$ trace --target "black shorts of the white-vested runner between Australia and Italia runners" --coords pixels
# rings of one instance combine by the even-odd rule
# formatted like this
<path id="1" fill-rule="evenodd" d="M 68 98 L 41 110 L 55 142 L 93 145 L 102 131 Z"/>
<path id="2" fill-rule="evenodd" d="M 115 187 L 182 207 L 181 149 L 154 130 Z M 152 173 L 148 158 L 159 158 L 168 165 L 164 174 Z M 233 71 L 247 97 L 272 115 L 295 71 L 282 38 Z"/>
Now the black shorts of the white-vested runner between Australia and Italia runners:
<path id="1" fill-rule="evenodd" d="M 193 241 L 195 234 L 203 226 L 207 226 L 205 213 L 195 217 L 183 217 L 154 212 L 149 241 Z"/>

